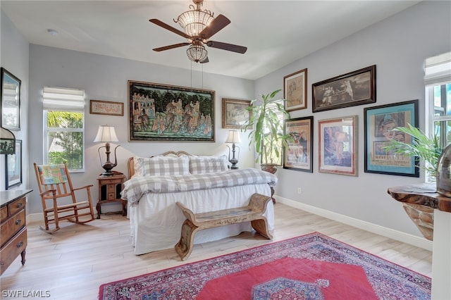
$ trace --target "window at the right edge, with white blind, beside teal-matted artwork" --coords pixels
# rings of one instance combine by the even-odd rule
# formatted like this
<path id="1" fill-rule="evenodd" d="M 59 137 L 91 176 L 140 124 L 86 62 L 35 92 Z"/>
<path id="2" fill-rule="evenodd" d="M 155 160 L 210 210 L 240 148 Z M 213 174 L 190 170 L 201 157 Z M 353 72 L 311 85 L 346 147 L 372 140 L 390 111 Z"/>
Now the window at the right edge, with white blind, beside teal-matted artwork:
<path id="1" fill-rule="evenodd" d="M 426 59 L 426 135 L 440 147 L 451 143 L 451 52 Z"/>

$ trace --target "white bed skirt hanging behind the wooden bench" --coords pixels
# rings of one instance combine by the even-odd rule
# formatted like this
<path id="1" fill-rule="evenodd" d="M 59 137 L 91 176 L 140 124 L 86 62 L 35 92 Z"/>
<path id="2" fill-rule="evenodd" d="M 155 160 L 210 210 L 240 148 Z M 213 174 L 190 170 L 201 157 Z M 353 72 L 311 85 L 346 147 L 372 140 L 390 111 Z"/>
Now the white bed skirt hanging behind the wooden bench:
<path id="1" fill-rule="evenodd" d="M 254 193 L 271 196 L 271 189 L 267 184 L 261 184 L 144 195 L 137 205 L 130 205 L 128 211 L 135 254 L 170 249 L 177 244 L 186 218 L 175 202 L 181 202 L 194 213 L 204 213 L 247 206 Z M 272 201 L 268 202 L 264 215 L 268 220 L 269 230 L 273 230 Z M 194 244 L 233 237 L 244 231 L 252 231 L 250 222 L 200 230 L 194 236 Z"/>

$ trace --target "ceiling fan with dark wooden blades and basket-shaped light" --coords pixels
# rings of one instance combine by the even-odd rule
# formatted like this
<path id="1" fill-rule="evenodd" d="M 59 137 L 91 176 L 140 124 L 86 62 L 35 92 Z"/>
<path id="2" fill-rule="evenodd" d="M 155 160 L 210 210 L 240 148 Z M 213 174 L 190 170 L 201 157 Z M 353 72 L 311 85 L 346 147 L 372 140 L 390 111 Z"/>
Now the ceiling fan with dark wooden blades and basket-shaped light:
<path id="1" fill-rule="evenodd" d="M 247 51 L 247 47 L 245 46 L 211 41 L 210 38 L 215 35 L 216 32 L 222 30 L 224 27 L 230 24 L 230 20 L 224 15 L 218 15 L 216 18 L 214 18 L 214 13 L 211 13 L 211 11 L 202 11 L 200 7 L 202 6 L 204 0 L 192 0 L 192 2 L 196 5 L 196 8 L 194 8 L 194 6 L 191 4 L 189 6 L 191 9 L 190 11 L 185 11 L 185 13 L 182 13 L 178 16 L 177 20 L 174 19 L 174 22 L 183 27 L 185 32 L 178 30 L 171 25 L 163 23 L 161 20 L 149 20 L 149 22 L 152 22 L 155 25 L 159 25 L 160 27 L 174 32 L 181 37 L 185 37 L 185 39 L 188 40 L 188 42 L 155 48 L 153 49 L 154 51 L 165 51 L 181 46 L 190 45 L 186 51 L 187 56 L 191 61 L 194 61 L 196 63 L 209 62 L 208 51 L 206 51 L 204 45 L 211 48 L 245 54 L 245 52 Z"/>

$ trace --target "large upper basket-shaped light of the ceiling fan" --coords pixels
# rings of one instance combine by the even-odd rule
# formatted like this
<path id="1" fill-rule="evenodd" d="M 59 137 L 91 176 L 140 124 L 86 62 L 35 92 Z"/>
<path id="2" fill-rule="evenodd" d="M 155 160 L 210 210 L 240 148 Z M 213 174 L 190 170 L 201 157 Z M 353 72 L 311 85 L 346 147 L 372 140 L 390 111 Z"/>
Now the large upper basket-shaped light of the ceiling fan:
<path id="1" fill-rule="evenodd" d="M 185 11 L 185 13 L 179 15 L 174 22 L 183 27 L 185 34 L 190 37 L 197 37 L 214 20 L 214 13 L 207 10 L 201 11 L 199 4 L 197 4 L 197 8 L 192 5 L 190 5 L 190 8 L 190 11 Z"/>

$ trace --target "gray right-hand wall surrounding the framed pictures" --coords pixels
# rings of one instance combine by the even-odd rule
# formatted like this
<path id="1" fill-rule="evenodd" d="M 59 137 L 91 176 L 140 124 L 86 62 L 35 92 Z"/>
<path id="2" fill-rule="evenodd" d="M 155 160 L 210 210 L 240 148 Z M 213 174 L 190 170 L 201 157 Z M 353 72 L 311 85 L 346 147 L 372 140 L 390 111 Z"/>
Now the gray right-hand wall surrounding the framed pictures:
<path id="1" fill-rule="evenodd" d="M 314 173 L 278 170 L 278 196 L 421 236 L 387 189 L 424 182 L 424 174 L 414 178 L 364 173 L 364 108 L 419 99 L 424 130 L 424 59 L 450 51 L 450 13 L 450 1 L 421 2 L 257 80 L 257 91 L 280 87 L 283 76 L 308 68 L 308 107 L 291 117 L 314 115 Z M 312 113 L 311 84 L 369 65 L 376 65 L 375 104 Z M 318 120 L 347 115 L 359 118 L 359 176 L 319 173 Z M 297 194 L 298 187 L 302 194 Z"/>

